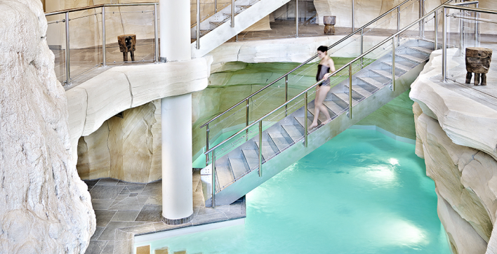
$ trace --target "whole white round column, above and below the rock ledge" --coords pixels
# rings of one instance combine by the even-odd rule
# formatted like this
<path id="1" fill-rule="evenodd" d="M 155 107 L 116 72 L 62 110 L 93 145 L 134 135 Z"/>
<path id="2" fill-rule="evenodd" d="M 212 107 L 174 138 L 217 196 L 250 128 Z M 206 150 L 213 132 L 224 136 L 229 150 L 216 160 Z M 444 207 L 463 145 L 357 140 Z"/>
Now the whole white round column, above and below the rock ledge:
<path id="1" fill-rule="evenodd" d="M 191 60 L 190 1 L 159 0 L 161 62 Z M 192 94 L 161 99 L 162 220 L 193 218 Z"/>

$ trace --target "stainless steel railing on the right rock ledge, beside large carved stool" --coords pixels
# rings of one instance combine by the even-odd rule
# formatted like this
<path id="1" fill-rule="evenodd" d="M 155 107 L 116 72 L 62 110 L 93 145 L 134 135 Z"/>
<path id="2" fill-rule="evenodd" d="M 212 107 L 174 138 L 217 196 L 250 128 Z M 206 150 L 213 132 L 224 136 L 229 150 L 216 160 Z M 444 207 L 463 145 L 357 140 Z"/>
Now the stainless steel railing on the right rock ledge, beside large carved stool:
<path id="1" fill-rule="evenodd" d="M 468 4 L 470 2 L 463 2 L 460 4 Z M 487 13 L 487 14 L 497 14 L 497 10 L 491 10 L 487 8 L 472 8 L 472 7 L 465 7 L 465 6 L 460 6 L 460 4 L 444 4 L 444 26 L 442 27 L 442 35 L 443 35 L 443 45 L 442 45 L 442 81 L 446 82 L 447 81 L 447 9 L 455 9 L 455 10 L 460 10 L 460 11 L 472 11 L 475 13 Z M 478 5 L 478 1 L 472 1 L 471 4 Z M 477 42 L 479 40 L 479 28 L 478 28 L 478 20 L 479 18 L 475 18 L 475 22 L 477 27 L 475 28 L 475 41 Z M 463 48 L 460 48 L 460 51 L 462 51 Z"/>

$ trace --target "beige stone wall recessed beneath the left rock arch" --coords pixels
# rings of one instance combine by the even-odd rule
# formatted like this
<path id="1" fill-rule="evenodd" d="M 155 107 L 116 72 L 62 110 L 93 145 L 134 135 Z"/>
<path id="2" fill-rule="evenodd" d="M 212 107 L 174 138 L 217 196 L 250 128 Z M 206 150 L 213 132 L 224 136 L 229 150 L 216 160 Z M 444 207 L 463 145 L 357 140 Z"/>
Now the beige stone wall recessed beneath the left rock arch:
<path id="1" fill-rule="evenodd" d="M 77 168 L 82 179 L 161 179 L 161 101 L 127 109 L 123 116 L 113 116 L 79 138 Z"/>

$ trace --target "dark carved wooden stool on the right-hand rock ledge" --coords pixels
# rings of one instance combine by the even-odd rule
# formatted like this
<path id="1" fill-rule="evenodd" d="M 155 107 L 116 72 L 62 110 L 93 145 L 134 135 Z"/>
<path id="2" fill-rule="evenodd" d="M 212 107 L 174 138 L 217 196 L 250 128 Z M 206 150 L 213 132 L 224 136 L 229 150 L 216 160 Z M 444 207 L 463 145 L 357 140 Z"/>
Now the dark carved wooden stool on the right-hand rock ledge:
<path id="1" fill-rule="evenodd" d="M 475 73 L 475 86 L 478 86 L 480 75 L 482 86 L 486 86 L 486 74 L 489 73 L 492 50 L 490 48 L 466 48 L 466 83 L 471 83 L 472 74 Z"/>

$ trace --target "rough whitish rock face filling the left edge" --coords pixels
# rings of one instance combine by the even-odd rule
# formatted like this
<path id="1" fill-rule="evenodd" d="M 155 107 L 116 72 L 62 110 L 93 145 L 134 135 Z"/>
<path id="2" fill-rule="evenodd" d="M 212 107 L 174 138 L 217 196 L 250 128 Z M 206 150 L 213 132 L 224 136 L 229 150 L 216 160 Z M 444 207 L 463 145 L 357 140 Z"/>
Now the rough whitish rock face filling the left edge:
<path id="1" fill-rule="evenodd" d="M 41 1 L 0 1 L 0 253 L 84 253 L 95 231 Z"/>

